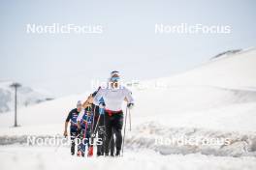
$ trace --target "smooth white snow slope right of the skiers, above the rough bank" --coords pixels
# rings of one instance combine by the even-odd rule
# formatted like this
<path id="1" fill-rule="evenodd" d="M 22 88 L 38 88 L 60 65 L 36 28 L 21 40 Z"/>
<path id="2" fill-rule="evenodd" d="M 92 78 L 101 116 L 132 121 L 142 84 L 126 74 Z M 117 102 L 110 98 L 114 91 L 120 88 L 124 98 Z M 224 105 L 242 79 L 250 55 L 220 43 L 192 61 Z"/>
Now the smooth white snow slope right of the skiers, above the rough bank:
<path id="1" fill-rule="evenodd" d="M 172 77 L 141 82 L 135 93 L 138 114 L 172 115 L 172 119 L 157 118 L 172 126 L 254 131 L 255 63 L 252 48 Z"/>

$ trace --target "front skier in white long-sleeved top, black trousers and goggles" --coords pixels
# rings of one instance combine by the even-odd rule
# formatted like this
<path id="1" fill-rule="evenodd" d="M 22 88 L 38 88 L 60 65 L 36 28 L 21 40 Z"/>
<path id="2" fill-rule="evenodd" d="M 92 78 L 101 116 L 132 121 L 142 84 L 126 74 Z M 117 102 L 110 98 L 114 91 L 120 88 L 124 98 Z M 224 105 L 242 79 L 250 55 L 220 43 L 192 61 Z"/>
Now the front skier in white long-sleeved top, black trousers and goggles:
<path id="1" fill-rule="evenodd" d="M 106 141 L 105 141 L 105 156 L 109 156 L 110 141 L 112 133 L 115 134 L 115 156 L 120 156 L 122 147 L 122 126 L 123 126 L 123 111 L 122 102 L 127 100 L 128 108 L 134 105 L 134 99 L 131 92 L 119 83 L 120 75 L 118 71 L 112 71 L 109 80 L 109 85 L 106 88 L 101 88 L 93 99 L 94 104 L 100 108 L 105 108 L 105 126 L 106 126 Z M 104 99 L 104 103 L 100 101 Z"/>

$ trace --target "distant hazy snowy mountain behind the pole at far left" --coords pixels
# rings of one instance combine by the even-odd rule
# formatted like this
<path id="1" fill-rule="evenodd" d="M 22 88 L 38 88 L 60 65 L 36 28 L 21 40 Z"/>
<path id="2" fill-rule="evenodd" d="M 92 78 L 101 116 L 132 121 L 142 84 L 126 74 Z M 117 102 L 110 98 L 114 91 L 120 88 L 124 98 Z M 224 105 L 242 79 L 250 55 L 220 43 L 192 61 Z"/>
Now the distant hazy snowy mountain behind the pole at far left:
<path id="1" fill-rule="evenodd" d="M 14 89 L 10 87 L 11 81 L 0 81 L 0 113 L 13 110 L 15 103 Z M 39 103 L 48 99 L 52 99 L 47 94 L 35 91 L 30 87 L 20 87 L 17 91 L 17 105 L 28 106 Z"/>

